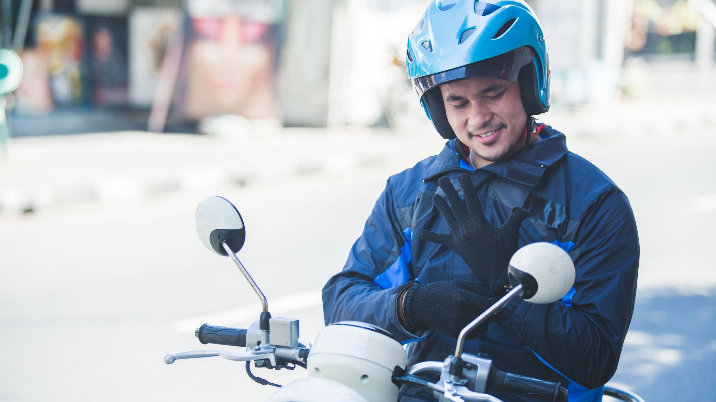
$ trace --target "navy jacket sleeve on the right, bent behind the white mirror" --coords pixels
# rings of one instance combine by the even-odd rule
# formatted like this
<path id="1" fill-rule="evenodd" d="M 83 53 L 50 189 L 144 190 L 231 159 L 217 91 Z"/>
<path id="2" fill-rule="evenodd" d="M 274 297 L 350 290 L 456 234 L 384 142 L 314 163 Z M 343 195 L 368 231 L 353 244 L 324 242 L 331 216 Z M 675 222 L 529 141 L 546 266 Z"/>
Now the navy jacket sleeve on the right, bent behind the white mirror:
<path id="1" fill-rule="evenodd" d="M 495 315 L 553 370 L 585 388 L 609 381 L 634 311 L 637 225 L 627 196 L 599 195 L 581 217 L 569 254 L 573 293 L 547 305 L 511 300 Z"/>

